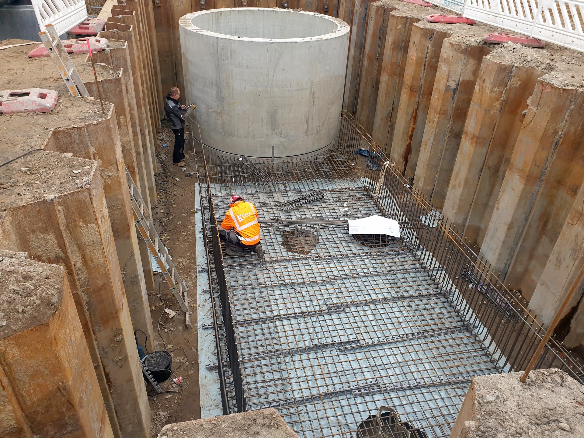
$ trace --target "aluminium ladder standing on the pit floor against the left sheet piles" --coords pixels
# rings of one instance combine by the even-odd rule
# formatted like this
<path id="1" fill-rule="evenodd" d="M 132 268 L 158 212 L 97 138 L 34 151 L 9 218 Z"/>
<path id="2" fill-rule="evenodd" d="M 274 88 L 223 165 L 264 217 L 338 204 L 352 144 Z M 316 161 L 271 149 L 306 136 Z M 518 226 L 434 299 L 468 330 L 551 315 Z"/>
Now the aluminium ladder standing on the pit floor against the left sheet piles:
<path id="1" fill-rule="evenodd" d="M 158 234 L 154 229 L 154 223 L 152 223 L 150 211 L 148 211 L 144 200 L 142 200 L 142 196 L 140 196 L 140 192 L 138 192 L 138 187 L 134 184 L 134 180 L 132 179 L 130 172 L 128 172 L 128 169 L 126 169 L 126 178 L 128 180 L 128 189 L 130 189 L 130 201 L 132 204 L 136 228 L 138 228 L 138 232 L 142 236 L 142 239 L 144 239 L 148 245 L 152 257 L 156 260 L 168 286 L 171 287 L 176 301 L 180 304 L 180 308 L 185 312 L 186 327 L 190 329 L 192 328 L 192 325 L 190 324 L 188 307 L 189 296 L 186 291 L 186 281 L 180 278 L 174 263 L 172 263 L 172 260 L 168 255 L 168 250 L 158 237 Z"/>

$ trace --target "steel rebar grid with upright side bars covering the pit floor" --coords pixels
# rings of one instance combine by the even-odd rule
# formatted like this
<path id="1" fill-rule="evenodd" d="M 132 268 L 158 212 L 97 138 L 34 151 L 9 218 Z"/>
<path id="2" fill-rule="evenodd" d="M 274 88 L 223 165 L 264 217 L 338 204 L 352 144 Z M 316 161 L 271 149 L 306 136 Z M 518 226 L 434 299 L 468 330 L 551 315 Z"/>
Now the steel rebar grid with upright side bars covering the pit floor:
<path id="1" fill-rule="evenodd" d="M 280 164 L 281 173 L 261 165 L 267 179 L 198 157 L 224 411 L 274 407 L 302 437 L 355 437 L 388 405 L 426 436 L 447 437 L 471 378 L 521 369 L 543 329 L 446 221 L 422 223 L 431 206 L 390 165 L 357 178 L 350 152 L 370 141 L 359 131 L 343 116 L 334 159 Z M 312 190 L 325 199 L 279 208 Z M 258 208 L 261 262 L 221 254 L 217 221 L 232 193 Z M 340 221 L 371 214 L 398 220 L 403 237 L 357 241 Z M 328 222 L 299 248 L 290 233 L 306 219 Z M 462 272 L 509 304 L 512 317 Z M 540 367 L 582 378 L 557 342 L 547 350 Z"/>

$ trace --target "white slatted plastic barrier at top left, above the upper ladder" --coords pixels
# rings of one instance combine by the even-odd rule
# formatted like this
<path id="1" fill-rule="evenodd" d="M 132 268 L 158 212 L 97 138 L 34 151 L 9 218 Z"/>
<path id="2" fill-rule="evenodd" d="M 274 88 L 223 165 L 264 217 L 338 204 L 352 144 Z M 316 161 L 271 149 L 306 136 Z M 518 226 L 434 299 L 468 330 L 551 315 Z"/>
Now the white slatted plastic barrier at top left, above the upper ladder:
<path id="1" fill-rule="evenodd" d="M 61 35 L 87 18 L 85 0 L 32 0 L 32 4 L 41 31 L 52 24 Z"/>

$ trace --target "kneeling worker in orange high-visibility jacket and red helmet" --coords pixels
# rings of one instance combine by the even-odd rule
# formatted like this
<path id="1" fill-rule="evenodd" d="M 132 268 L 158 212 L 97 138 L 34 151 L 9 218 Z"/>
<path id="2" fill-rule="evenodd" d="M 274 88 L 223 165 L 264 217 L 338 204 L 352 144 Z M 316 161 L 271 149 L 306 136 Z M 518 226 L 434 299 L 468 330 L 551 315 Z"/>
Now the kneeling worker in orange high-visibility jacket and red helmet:
<path id="1" fill-rule="evenodd" d="M 221 241 L 227 246 L 225 253 L 230 256 L 244 255 L 247 248 L 263 259 L 264 251 L 260 242 L 258 210 L 251 202 L 245 202 L 238 194 L 231 197 L 229 210 L 219 229 Z"/>

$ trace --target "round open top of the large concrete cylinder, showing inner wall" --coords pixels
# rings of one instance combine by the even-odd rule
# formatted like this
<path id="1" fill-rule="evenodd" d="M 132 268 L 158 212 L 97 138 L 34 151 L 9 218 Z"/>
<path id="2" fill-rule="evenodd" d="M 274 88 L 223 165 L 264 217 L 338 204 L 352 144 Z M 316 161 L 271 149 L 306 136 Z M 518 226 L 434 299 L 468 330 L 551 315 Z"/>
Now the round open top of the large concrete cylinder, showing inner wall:
<path id="1" fill-rule="evenodd" d="M 212 9 L 193 14 L 190 22 L 203 32 L 238 39 L 314 38 L 339 30 L 339 23 L 331 17 L 289 9 Z"/>

